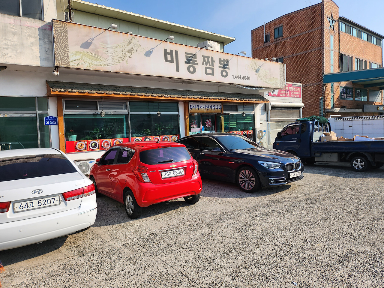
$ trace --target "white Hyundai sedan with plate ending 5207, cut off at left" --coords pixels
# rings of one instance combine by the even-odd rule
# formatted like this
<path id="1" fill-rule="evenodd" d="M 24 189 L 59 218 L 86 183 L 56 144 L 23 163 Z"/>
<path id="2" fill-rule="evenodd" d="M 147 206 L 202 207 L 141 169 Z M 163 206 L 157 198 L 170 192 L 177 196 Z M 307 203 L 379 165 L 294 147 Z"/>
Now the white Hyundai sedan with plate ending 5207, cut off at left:
<path id="1" fill-rule="evenodd" d="M 93 182 L 52 148 L 0 151 L 0 251 L 88 228 Z"/>

